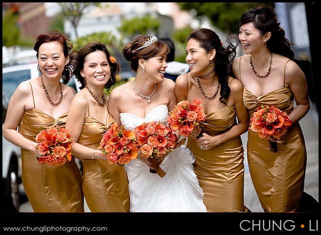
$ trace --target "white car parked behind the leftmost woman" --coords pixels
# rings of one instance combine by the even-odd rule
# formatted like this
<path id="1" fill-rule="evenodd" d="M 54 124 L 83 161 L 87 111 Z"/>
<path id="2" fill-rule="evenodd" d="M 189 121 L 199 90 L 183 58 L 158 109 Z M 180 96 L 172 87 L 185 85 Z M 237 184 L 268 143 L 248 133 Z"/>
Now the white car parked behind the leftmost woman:
<path id="1" fill-rule="evenodd" d="M 13 95 L 18 85 L 25 80 L 35 78 L 40 75 L 38 63 L 17 64 L 5 66 L 2 69 L 3 75 L 3 127 L 7 114 L 10 97 Z M 78 92 L 80 84 L 73 76 L 68 85 Z M 3 177 L 3 211 L 19 211 L 20 194 L 24 193 L 21 184 L 21 149 L 12 144 L 2 136 L 2 177 Z M 77 162 L 79 167 L 80 163 Z"/>

